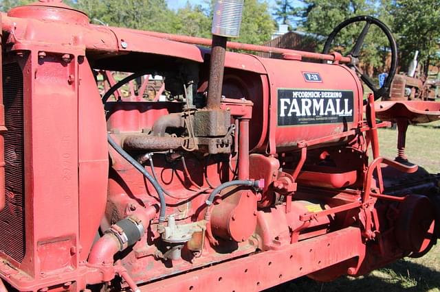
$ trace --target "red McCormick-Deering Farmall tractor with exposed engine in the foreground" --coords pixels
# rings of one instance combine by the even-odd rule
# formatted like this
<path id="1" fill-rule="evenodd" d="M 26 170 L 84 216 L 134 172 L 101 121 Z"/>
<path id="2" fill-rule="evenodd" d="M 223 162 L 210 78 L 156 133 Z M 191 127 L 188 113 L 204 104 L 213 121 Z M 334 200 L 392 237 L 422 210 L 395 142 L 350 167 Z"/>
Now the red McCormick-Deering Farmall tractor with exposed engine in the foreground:
<path id="1" fill-rule="evenodd" d="M 377 128 L 440 112 L 375 101 L 389 29 L 351 19 L 349 56 L 226 42 L 241 8 L 217 3 L 212 40 L 91 25 L 61 1 L 0 14 L 3 291 L 260 291 L 430 250 L 440 177 L 380 156 Z M 370 25 L 393 54 L 382 88 L 356 73 Z M 131 74 L 101 95 L 99 71 Z M 144 75 L 162 98 L 116 93 Z"/>

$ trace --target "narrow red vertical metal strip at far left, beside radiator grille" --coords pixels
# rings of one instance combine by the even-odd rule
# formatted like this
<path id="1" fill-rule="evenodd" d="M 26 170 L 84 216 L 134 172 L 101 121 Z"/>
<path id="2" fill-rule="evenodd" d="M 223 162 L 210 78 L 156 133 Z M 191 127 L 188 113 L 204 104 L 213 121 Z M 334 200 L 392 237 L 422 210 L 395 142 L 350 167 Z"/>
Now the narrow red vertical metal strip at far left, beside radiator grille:
<path id="1" fill-rule="evenodd" d="M 0 210 L 5 207 L 5 108 L 3 106 L 3 23 L 0 13 Z"/>

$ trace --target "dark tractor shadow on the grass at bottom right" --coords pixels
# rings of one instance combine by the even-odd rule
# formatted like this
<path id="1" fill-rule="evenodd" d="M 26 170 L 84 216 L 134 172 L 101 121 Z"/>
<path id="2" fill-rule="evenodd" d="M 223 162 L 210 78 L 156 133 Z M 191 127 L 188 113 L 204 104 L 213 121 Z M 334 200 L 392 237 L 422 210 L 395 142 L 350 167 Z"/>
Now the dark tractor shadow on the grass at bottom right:
<path id="1" fill-rule="evenodd" d="M 266 292 L 439 291 L 439 287 L 439 271 L 407 260 L 399 260 L 359 278 L 345 276 L 333 282 L 316 282 L 303 277 L 267 289 Z"/>

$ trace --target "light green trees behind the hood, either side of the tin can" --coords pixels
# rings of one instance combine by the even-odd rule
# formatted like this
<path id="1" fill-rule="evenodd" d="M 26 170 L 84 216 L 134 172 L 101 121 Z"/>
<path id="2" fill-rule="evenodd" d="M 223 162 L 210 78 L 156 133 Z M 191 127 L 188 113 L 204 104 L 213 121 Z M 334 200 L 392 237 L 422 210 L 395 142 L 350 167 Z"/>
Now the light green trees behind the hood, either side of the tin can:
<path id="1" fill-rule="evenodd" d="M 2 10 L 34 0 L 3 0 Z M 173 12 L 166 0 L 67 0 L 74 8 L 86 12 L 91 21 L 110 26 L 173 32 L 190 36 L 211 36 L 212 8 L 190 5 Z M 209 0 L 208 0 L 209 1 Z M 66 1 L 65 1 L 66 2 Z M 237 41 L 263 43 L 270 40 L 275 23 L 266 2 L 245 0 L 241 34 Z"/>

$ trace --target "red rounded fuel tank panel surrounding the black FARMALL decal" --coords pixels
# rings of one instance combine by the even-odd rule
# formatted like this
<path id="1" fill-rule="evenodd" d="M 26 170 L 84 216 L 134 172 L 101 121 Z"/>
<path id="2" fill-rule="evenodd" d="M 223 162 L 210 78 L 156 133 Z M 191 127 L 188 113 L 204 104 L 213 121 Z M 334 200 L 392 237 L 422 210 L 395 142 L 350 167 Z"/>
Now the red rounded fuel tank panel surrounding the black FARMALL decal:
<path id="1" fill-rule="evenodd" d="M 358 127 L 362 120 L 362 86 L 355 74 L 347 67 L 333 64 L 317 64 L 299 61 L 283 61 L 276 59 L 262 60 L 267 69 L 270 86 L 270 133 L 268 137 L 270 153 L 296 148 L 300 141 L 310 141 L 323 136 L 331 136 L 347 132 Z M 295 68 L 295 69 L 293 69 Z M 304 72 L 318 72 L 322 82 L 307 82 Z M 348 123 L 321 123 L 303 126 L 285 127 L 278 125 L 278 90 L 292 88 L 296 90 L 340 90 L 353 93 L 353 121 Z M 287 110 L 286 110 L 287 114 Z M 333 138 L 329 143 L 338 143 Z"/>

